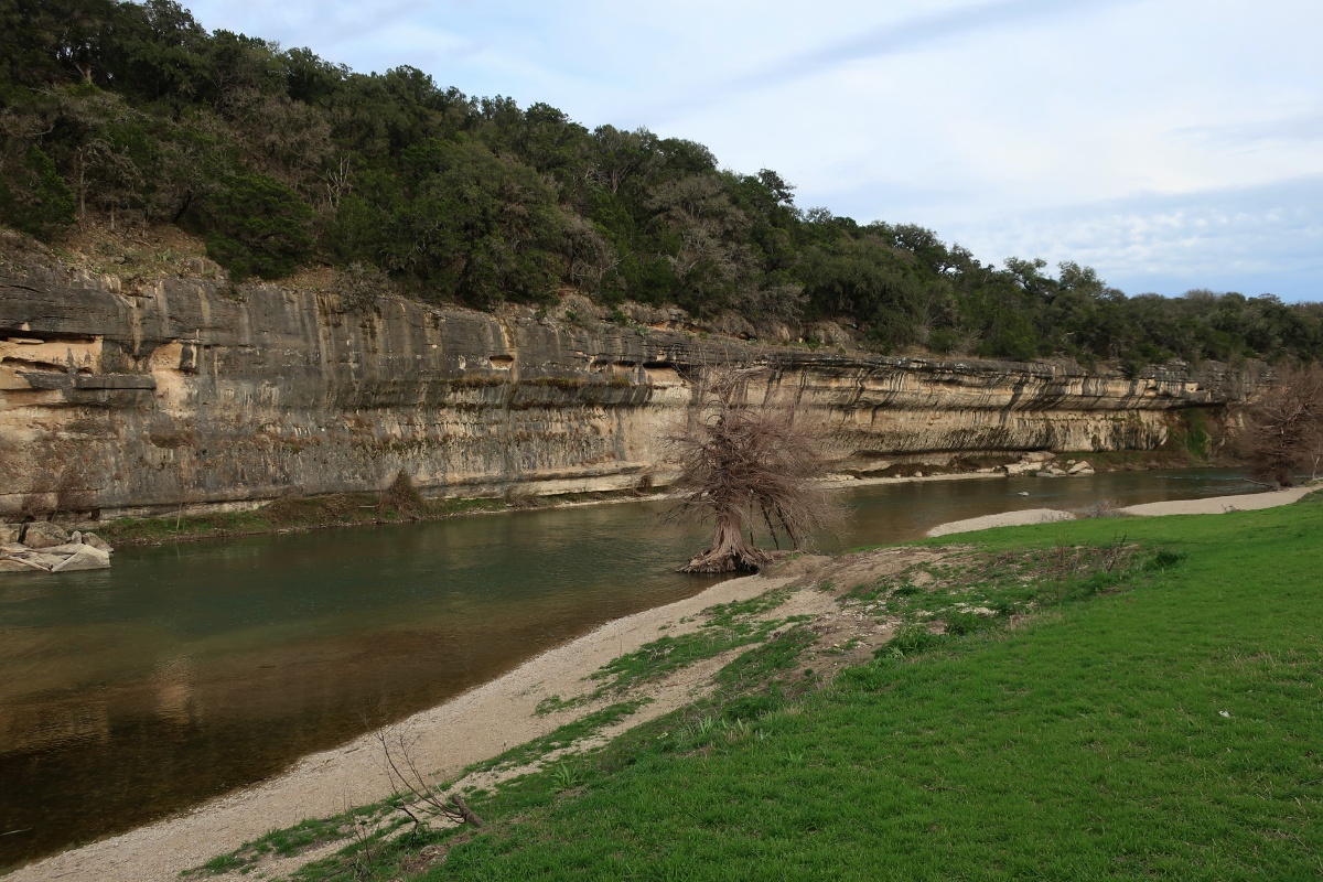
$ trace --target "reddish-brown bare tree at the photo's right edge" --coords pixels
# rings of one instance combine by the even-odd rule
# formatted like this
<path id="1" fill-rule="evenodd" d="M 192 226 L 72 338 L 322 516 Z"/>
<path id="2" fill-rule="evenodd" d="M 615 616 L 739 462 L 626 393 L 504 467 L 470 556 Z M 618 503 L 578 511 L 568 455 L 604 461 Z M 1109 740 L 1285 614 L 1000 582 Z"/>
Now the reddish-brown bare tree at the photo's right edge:
<path id="1" fill-rule="evenodd" d="M 1287 368 L 1246 411 L 1237 439 L 1250 471 L 1277 487 L 1290 487 L 1323 458 L 1323 368 Z"/>

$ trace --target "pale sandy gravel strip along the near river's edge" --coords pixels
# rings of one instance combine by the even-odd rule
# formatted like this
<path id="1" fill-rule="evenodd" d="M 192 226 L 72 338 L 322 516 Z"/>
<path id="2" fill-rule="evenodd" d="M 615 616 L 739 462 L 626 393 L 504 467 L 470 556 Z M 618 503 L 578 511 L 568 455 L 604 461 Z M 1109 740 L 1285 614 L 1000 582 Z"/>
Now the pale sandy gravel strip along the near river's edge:
<path id="1" fill-rule="evenodd" d="M 951 480 L 954 476 L 939 477 Z M 1310 485 L 1285 492 L 1274 491 L 1259 495 L 1152 504 L 1168 506 L 1168 510 L 1152 516 L 1229 513 L 1287 505 L 1310 493 L 1319 492 L 1320 487 L 1323 487 L 1323 481 L 1312 481 Z M 1218 508 L 1208 510 L 1209 505 Z M 1183 512 L 1175 506 L 1187 506 L 1189 510 Z M 980 529 L 996 526 L 1005 526 L 1005 524 L 991 524 Z M 898 547 L 910 545 L 916 543 L 902 543 Z M 926 545 L 926 542 L 921 541 L 918 545 Z M 856 554 L 859 551 L 848 551 L 837 557 L 848 558 Z M 445 763 L 433 762 L 426 750 L 421 750 L 415 756 L 419 766 L 438 770 L 438 776 L 443 778 L 447 772 L 454 774 L 467 766 L 490 760 L 505 748 L 545 735 L 564 722 L 560 715 L 542 715 L 536 710 L 529 710 L 536 707 L 532 696 L 550 694 L 557 682 L 586 680 L 602 664 L 634 652 L 660 635 L 677 633 L 681 625 L 692 623 L 699 612 L 713 604 L 747 600 L 791 581 L 812 581 L 820 577 L 822 571 L 828 569 L 835 559 L 807 558 L 804 559 L 807 566 L 795 567 L 790 573 L 773 571 L 767 575 L 728 579 L 692 598 L 609 621 L 587 635 L 548 649 L 512 670 L 474 686 L 435 707 L 413 714 L 398 726 L 413 731 L 429 731 L 434 741 L 439 741 L 447 747 L 463 742 L 463 750 L 467 754 L 463 756 L 452 754 Z M 493 709 L 500 709 L 500 713 L 508 715 L 511 705 L 519 700 L 523 700 L 524 705 L 529 705 L 525 709 L 529 713 L 524 713 L 519 719 L 523 729 L 505 725 L 484 730 L 474 725 L 482 709 L 488 709 L 490 713 L 495 713 Z M 636 722 L 643 722 L 643 719 L 638 718 L 631 725 Z M 460 733 L 462 738 L 438 738 L 435 733 L 446 726 Z M 486 739 L 482 735 L 486 735 Z M 499 747 L 496 741 L 500 741 Z M 380 800 L 385 793 L 372 788 L 366 793 L 353 793 L 353 789 L 361 788 L 366 779 L 384 778 L 380 756 L 373 754 L 376 744 L 373 733 L 368 733 L 328 751 L 310 754 L 271 779 L 208 800 L 180 815 L 41 858 L 17 867 L 9 878 L 16 882 L 40 882 L 52 878 L 70 882 L 77 879 L 108 879 L 112 882 L 175 879 L 181 871 L 200 866 L 206 860 L 222 854 L 228 849 L 238 848 L 243 842 L 282 825 L 292 825 L 303 819 L 329 817 L 349 805 L 366 805 Z M 325 779 L 329 778 L 335 780 L 328 787 Z M 315 804 L 311 791 L 320 791 L 320 804 Z M 284 804 L 283 813 L 273 815 L 270 809 L 261 811 L 262 803 L 270 803 L 273 799 Z M 206 836 L 208 829 L 210 836 Z"/>

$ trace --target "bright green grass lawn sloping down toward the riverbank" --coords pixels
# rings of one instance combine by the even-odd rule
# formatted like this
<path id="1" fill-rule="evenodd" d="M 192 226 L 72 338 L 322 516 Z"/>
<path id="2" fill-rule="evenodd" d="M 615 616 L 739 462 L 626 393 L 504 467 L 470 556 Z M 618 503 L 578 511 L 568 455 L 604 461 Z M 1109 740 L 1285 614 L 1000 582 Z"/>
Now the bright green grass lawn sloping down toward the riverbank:
<path id="1" fill-rule="evenodd" d="M 822 689 L 783 688 L 812 673 L 765 644 L 732 670 L 778 668 L 770 688 L 472 793 L 484 829 L 302 877 L 1323 878 L 1323 500 L 960 540 L 1139 549 L 1033 615 L 1007 584 L 1000 624 L 910 633 Z M 855 592 L 898 598 L 923 600 Z"/>

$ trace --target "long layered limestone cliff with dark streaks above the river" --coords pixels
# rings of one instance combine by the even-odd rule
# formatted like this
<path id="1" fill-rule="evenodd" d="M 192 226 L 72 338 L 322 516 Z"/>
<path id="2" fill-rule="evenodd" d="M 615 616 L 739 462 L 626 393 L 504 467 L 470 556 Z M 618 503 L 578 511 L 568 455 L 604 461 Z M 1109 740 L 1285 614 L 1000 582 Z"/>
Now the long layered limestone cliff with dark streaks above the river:
<path id="1" fill-rule="evenodd" d="M 3 272 L 3 271 L 0 271 Z M 1253 372 L 885 358 L 741 344 L 683 320 L 613 325 L 331 292 L 29 268 L 0 276 L 0 521 L 377 491 L 613 489 L 664 480 L 699 365 L 769 365 L 830 427 L 833 471 L 1162 444 Z"/>

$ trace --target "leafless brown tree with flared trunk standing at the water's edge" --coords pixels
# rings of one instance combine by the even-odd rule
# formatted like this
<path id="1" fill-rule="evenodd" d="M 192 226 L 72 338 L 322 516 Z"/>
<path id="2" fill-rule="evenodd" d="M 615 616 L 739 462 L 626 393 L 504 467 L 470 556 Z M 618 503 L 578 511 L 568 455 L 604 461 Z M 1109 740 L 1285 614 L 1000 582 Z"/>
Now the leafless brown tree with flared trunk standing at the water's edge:
<path id="1" fill-rule="evenodd" d="M 680 467 L 672 517 L 696 514 L 714 528 L 712 546 L 681 573 L 757 571 L 773 558 L 754 543 L 758 529 L 778 549 L 782 537 L 799 549 L 837 514 L 814 481 L 823 444 L 799 402 L 770 391 L 749 402 L 749 381 L 765 370 L 704 370 L 685 422 L 667 436 Z"/>

